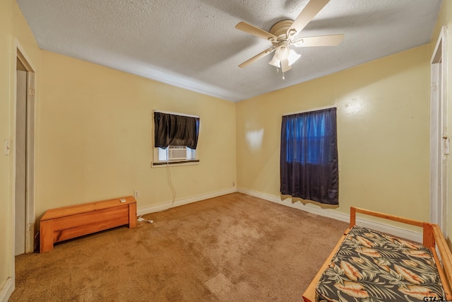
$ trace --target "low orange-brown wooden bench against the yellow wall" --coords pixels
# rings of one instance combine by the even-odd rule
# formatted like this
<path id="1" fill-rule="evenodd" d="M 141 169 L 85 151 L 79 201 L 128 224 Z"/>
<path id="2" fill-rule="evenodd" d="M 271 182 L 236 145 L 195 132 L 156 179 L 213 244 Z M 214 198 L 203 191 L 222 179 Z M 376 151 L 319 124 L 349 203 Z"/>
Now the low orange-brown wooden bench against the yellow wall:
<path id="1" fill-rule="evenodd" d="M 40 221 L 40 252 L 53 250 L 54 243 L 60 241 L 125 224 L 136 226 L 136 200 L 132 196 L 49 209 Z"/>

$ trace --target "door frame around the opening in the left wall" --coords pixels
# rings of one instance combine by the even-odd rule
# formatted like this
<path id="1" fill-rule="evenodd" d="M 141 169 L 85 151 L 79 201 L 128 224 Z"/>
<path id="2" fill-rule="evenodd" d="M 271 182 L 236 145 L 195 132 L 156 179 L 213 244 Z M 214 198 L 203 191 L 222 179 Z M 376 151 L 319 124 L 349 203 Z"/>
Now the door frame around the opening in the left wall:
<path id="1" fill-rule="evenodd" d="M 12 121 L 12 137 L 13 137 L 13 188 L 12 188 L 12 237 L 15 238 L 16 232 L 16 117 L 17 117 L 17 60 L 19 60 L 25 69 L 27 69 L 27 141 L 26 141 L 26 211 L 25 211 L 25 253 L 35 250 L 35 134 L 36 134 L 36 110 L 35 110 L 35 67 L 30 57 L 23 49 L 22 45 L 15 40 L 14 42 L 15 56 L 13 62 L 13 121 Z M 14 239 L 13 239 L 14 240 Z M 16 243 L 13 241 L 13 250 Z M 15 252 L 13 253 L 15 255 Z M 15 272 L 14 272 L 15 274 Z M 13 276 L 14 276 L 13 274 Z"/>

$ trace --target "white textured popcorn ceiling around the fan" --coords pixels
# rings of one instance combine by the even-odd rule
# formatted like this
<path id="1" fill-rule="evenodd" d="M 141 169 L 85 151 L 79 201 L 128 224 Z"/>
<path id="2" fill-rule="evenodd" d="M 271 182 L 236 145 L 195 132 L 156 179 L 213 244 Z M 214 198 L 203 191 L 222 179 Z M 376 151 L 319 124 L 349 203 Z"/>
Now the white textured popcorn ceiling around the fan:
<path id="1" fill-rule="evenodd" d="M 316 1 L 316 0 L 312 0 Z M 294 20 L 308 0 L 17 0 L 43 50 L 238 101 L 429 42 L 441 0 L 331 0 L 297 37 L 345 34 L 302 47 L 285 80 L 268 64 L 239 64 L 270 42 L 263 30 Z"/>

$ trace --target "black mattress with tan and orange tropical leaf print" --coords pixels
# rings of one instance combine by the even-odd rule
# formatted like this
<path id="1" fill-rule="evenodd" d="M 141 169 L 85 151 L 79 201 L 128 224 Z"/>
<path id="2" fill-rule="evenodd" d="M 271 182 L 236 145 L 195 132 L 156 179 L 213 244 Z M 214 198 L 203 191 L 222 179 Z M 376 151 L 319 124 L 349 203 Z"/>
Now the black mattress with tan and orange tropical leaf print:
<path id="1" fill-rule="evenodd" d="M 445 294 L 429 249 L 359 226 L 345 236 L 316 287 L 316 301 L 436 301 L 433 297 Z"/>

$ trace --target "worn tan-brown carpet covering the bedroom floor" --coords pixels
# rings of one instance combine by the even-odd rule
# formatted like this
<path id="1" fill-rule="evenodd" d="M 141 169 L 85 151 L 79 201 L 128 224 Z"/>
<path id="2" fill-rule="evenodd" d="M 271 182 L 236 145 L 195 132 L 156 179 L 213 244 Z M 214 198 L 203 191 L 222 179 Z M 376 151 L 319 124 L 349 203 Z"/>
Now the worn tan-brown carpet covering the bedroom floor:
<path id="1" fill-rule="evenodd" d="M 10 301 L 302 301 L 347 223 L 234 193 L 16 257 Z"/>

